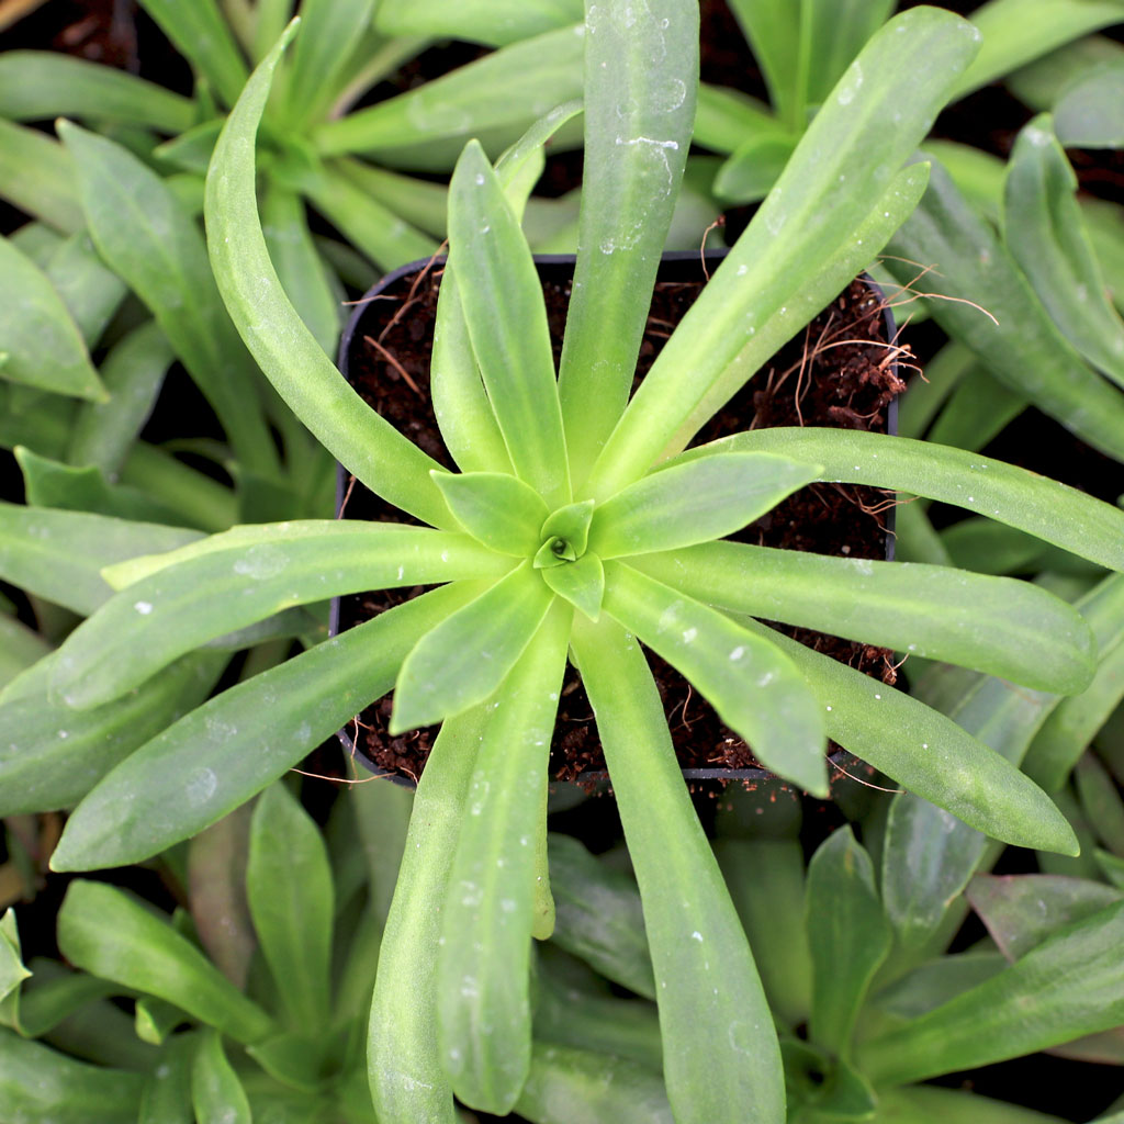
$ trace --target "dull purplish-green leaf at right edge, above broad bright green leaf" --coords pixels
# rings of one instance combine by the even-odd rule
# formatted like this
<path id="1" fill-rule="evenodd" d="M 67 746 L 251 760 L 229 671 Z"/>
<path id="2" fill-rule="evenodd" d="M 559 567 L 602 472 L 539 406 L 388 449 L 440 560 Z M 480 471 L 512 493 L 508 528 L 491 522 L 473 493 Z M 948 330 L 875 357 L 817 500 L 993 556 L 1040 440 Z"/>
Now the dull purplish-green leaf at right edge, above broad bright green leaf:
<path id="1" fill-rule="evenodd" d="M 977 874 L 964 896 L 1012 962 L 1066 925 L 1124 898 L 1104 882 L 1064 874 Z"/>

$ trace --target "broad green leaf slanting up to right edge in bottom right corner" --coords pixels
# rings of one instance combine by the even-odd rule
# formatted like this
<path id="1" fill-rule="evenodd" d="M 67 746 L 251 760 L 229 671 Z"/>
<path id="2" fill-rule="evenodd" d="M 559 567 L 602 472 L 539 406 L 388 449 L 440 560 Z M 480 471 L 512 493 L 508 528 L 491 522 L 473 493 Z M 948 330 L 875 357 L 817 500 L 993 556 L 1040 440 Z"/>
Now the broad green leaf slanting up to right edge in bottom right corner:
<path id="1" fill-rule="evenodd" d="M 1033 1053 L 1124 1023 L 1124 903 L 1067 925 L 1006 971 L 863 1043 L 879 1085 Z"/>

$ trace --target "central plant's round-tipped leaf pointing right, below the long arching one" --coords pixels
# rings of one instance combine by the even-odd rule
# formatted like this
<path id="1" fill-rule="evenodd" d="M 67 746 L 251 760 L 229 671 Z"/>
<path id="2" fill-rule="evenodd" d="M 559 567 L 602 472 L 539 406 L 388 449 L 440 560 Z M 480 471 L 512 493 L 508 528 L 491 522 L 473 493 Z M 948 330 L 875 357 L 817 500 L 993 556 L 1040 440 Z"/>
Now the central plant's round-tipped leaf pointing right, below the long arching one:
<path id="1" fill-rule="evenodd" d="M 728 542 L 646 555 L 635 565 L 718 608 L 976 668 L 1039 690 L 1076 694 L 1095 668 L 1093 637 L 1078 613 L 1013 578 Z"/>

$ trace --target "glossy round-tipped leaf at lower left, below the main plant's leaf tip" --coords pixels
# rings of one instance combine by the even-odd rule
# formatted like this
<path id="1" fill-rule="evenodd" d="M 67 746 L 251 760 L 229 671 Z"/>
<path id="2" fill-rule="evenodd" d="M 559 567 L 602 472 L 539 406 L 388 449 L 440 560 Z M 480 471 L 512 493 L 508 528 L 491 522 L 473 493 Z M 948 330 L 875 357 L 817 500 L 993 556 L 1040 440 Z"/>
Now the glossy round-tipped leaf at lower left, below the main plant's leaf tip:
<path id="1" fill-rule="evenodd" d="M 58 910 L 58 948 L 76 968 L 175 1004 L 237 1042 L 272 1026 L 167 921 L 105 882 L 70 883 Z"/>

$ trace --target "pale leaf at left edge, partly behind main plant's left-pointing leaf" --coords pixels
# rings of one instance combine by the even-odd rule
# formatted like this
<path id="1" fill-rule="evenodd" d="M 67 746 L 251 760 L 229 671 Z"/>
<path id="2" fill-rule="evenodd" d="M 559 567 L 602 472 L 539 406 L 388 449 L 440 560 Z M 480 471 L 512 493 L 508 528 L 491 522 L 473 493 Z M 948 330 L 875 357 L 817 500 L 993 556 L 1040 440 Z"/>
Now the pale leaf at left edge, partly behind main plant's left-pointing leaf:
<path id="1" fill-rule="evenodd" d="M 87 616 L 112 596 L 103 566 L 199 537 L 183 527 L 0 504 L 0 577 Z"/>

